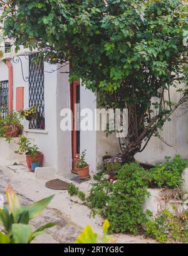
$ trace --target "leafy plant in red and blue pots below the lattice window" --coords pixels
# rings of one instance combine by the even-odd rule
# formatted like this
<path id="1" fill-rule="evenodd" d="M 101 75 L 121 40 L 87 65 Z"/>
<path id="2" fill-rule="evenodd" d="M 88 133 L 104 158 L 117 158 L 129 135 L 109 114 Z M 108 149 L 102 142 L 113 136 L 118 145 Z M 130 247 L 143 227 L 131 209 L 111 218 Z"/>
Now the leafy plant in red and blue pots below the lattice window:
<path id="1" fill-rule="evenodd" d="M 32 145 L 31 142 L 24 136 L 19 136 L 18 146 L 19 149 L 16 151 L 16 153 L 26 154 L 26 162 L 29 170 L 42 166 L 43 153 L 38 150 L 38 146 L 34 144 Z M 31 163 L 33 163 L 33 168 L 31 167 Z"/>

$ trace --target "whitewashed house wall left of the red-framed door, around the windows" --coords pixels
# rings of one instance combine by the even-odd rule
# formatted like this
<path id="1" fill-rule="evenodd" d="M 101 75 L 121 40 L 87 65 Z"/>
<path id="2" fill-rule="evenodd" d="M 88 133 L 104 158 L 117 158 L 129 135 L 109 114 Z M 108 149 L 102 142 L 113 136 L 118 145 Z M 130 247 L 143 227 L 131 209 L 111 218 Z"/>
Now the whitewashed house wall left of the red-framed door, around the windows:
<path id="1" fill-rule="evenodd" d="M 20 56 L 23 63 L 24 77 L 28 77 L 29 61 Z M 24 109 L 29 107 L 29 83 L 21 75 L 21 63 L 13 64 L 13 108 L 16 109 L 16 87 L 24 87 Z M 58 174 L 71 171 L 71 132 L 60 129 L 60 112 L 63 107 L 70 107 L 70 86 L 68 75 L 56 70 L 59 65 L 44 63 L 44 114 L 45 130 L 29 129 L 29 122 L 24 120 L 24 135 L 44 154 L 43 166 L 55 167 Z M 68 66 L 66 67 L 66 69 Z M 48 71 L 48 72 L 46 72 Z M 68 71 L 68 70 L 66 70 Z M 8 80 L 8 67 L 0 62 L 0 80 Z"/>

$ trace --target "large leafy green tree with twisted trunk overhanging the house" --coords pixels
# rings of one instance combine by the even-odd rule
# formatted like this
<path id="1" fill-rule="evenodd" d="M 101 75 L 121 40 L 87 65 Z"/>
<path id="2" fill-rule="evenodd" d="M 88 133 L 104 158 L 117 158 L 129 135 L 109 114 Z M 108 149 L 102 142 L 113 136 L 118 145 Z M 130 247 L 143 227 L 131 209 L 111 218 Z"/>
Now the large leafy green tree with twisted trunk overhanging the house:
<path id="1" fill-rule="evenodd" d="M 71 79 L 98 93 L 100 106 L 128 109 L 125 157 L 142 151 L 180 104 L 170 87 L 187 82 L 188 19 L 182 0 L 8 0 L 4 35 L 38 48 L 50 63 L 71 62 Z M 187 40 L 188 41 L 188 40 Z M 168 97 L 164 97 L 167 92 Z M 145 146 L 142 141 L 145 139 Z"/>

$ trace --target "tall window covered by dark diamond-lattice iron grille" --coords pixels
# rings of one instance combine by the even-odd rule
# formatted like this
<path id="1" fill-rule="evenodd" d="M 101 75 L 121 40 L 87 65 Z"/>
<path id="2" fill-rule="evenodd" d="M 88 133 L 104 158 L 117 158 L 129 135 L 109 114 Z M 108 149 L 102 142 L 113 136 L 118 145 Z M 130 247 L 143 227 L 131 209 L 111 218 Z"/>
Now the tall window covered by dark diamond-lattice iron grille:
<path id="1" fill-rule="evenodd" d="M 29 129 L 45 129 L 44 120 L 44 61 L 38 53 L 29 56 L 29 107 L 36 106 L 36 115 L 29 121 Z"/>

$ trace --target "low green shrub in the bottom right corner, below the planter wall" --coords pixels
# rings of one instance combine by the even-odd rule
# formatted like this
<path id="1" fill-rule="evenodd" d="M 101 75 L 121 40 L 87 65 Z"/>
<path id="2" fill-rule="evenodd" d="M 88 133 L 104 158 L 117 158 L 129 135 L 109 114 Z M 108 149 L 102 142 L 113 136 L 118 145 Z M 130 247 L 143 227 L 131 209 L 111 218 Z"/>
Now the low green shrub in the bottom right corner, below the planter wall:
<path id="1" fill-rule="evenodd" d="M 187 216 L 185 211 L 179 216 L 170 213 L 167 209 L 159 213 L 155 220 L 146 223 L 146 235 L 158 240 L 160 243 L 188 242 Z"/>

